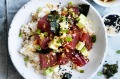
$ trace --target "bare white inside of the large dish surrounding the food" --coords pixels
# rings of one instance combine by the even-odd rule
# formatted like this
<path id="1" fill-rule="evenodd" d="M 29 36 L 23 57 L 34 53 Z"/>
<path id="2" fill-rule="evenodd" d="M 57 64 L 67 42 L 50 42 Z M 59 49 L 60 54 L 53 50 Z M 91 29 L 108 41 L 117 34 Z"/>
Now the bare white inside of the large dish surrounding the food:
<path id="1" fill-rule="evenodd" d="M 19 53 L 22 42 L 22 39 L 19 37 L 21 25 L 26 24 L 30 20 L 31 12 L 37 10 L 37 8 L 40 6 L 45 6 L 46 3 L 59 4 L 59 2 L 61 2 L 61 6 L 64 7 L 70 1 L 74 4 L 89 4 L 85 0 L 31 0 L 25 6 L 23 6 L 15 15 L 9 29 L 8 48 L 14 66 L 25 79 L 46 78 L 42 74 L 36 74 L 32 67 L 27 68 L 25 66 L 23 56 Z M 85 72 L 82 74 L 80 74 L 79 72 L 74 72 L 72 79 L 91 79 L 99 70 L 104 61 L 107 46 L 106 32 L 99 13 L 91 5 L 88 13 L 88 19 L 92 20 L 92 28 L 97 36 L 97 41 L 94 44 L 93 49 L 90 51 L 89 63 L 82 67 Z"/>

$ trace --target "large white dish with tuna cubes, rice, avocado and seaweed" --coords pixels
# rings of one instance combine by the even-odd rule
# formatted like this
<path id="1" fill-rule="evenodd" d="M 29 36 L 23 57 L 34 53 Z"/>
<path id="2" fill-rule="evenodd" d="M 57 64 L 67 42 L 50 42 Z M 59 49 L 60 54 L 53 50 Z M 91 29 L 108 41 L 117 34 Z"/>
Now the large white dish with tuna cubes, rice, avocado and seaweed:
<path id="1" fill-rule="evenodd" d="M 9 29 L 9 54 L 25 79 L 90 79 L 106 46 L 102 19 L 84 0 L 31 0 Z"/>

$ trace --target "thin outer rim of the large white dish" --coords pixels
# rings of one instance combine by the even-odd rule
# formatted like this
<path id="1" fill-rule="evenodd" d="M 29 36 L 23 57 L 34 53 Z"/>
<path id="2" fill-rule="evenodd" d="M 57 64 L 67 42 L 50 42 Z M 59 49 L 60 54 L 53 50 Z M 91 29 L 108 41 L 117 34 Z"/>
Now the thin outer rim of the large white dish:
<path id="1" fill-rule="evenodd" d="M 8 31 L 8 42 L 7 42 L 7 44 L 8 44 L 9 56 L 10 56 L 10 59 L 11 59 L 11 61 L 12 61 L 12 63 L 13 63 L 13 66 L 15 67 L 15 69 L 17 70 L 17 72 L 18 72 L 23 78 L 25 78 L 24 74 L 22 74 L 21 72 L 19 72 L 19 69 L 18 69 L 18 68 L 16 67 L 16 65 L 15 65 L 16 63 L 14 62 L 13 58 L 11 57 L 11 53 L 10 53 L 10 43 L 9 43 L 9 40 L 10 40 L 9 34 L 10 34 L 10 31 L 11 31 L 11 27 L 12 27 L 12 25 L 13 25 L 13 22 L 14 22 L 15 18 L 18 16 L 20 10 L 24 9 L 24 7 L 27 6 L 29 3 L 31 3 L 32 1 L 35 1 L 35 0 L 30 0 L 30 1 L 28 1 L 26 4 L 24 4 L 24 5 L 17 11 L 17 13 L 14 15 L 14 17 L 13 17 L 13 19 L 12 19 L 12 22 L 11 22 L 11 24 L 10 24 L 9 31 Z M 41 1 L 41 0 L 39 0 L 39 1 Z M 91 5 L 88 1 L 86 1 L 86 0 L 82 0 L 82 1 L 85 2 L 86 4 L 89 4 L 90 7 L 95 11 L 95 13 L 98 15 L 98 17 L 99 17 L 99 19 L 100 19 L 100 21 L 101 21 L 101 23 L 102 23 L 103 29 L 105 30 L 104 23 L 103 23 L 103 21 L 102 21 L 102 18 L 101 18 L 101 16 L 100 16 L 99 12 L 98 12 L 98 11 L 93 7 L 93 5 Z M 102 57 L 101 64 L 98 66 L 98 68 L 96 69 L 96 71 L 91 75 L 91 77 L 90 77 L 89 79 L 92 79 L 92 78 L 96 75 L 96 73 L 100 70 L 100 68 L 102 67 L 102 65 L 103 65 L 103 63 L 104 63 L 104 60 L 105 60 L 105 57 L 106 57 L 107 44 L 108 44 L 108 40 L 107 40 L 107 34 L 106 34 L 106 32 L 105 32 L 105 49 L 104 49 L 104 55 L 103 55 L 103 57 Z M 27 78 L 26 78 L 26 79 L 27 79 Z"/>

